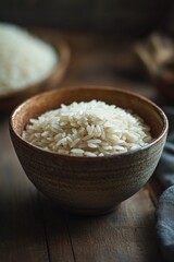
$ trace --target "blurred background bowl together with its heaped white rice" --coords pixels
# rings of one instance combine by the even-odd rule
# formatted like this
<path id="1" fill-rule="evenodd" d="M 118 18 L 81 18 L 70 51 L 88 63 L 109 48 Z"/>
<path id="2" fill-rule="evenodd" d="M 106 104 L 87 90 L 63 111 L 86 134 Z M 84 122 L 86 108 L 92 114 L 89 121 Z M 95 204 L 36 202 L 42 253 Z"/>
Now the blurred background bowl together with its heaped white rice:
<path id="1" fill-rule="evenodd" d="M 1 22 L 0 111 L 58 87 L 69 62 L 69 46 L 59 35 Z"/>

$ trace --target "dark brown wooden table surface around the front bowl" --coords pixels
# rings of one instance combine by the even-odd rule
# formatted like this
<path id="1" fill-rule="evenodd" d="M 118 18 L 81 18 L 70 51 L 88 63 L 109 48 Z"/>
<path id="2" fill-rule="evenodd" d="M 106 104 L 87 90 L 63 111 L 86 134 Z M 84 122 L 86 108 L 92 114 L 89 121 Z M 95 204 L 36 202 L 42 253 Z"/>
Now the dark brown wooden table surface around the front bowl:
<path id="1" fill-rule="evenodd" d="M 55 33 L 57 34 L 57 33 Z M 111 85 L 153 100 L 132 52 L 134 39 L 64 33 L 72 50 L 61 86 Z M 26 178 L 0 116 L 0 262 L 161 262 L 156 236 L 156 177 L 117 210 L 98 217 L 62 212 Z"/>

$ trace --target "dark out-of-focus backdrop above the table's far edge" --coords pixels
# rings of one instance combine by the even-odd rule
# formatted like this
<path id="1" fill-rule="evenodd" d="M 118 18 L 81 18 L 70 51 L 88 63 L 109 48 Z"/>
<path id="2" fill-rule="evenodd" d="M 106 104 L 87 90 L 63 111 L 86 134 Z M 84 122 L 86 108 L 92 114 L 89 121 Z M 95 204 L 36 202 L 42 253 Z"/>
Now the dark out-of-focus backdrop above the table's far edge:
<path id="1" fill-rule="evenodd" d="M 69 31 L 173 34 L 173 0 L 0 0 L 1 21 Z"/>

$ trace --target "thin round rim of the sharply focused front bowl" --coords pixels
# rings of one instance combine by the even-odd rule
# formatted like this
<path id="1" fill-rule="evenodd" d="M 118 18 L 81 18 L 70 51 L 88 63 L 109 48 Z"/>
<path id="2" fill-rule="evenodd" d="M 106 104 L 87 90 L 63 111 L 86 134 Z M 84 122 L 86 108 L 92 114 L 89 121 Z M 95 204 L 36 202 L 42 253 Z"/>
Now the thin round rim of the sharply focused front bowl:
<path id="1" fill-rule="evenodd" d="M 14 126 L 13 126 L 13 118 L 15 117 L 15 115 L 21 110 L 21 108 L 23 106 L 25 106 L 26 103 L 28 103 L 29 100 L 32 100 L 35 97 L 39 97 L 40 95 L 47 95 L 48 93 L 58 93 L 60 91 L 64 91 L 66 90 L 67 92 L 72 92 L 77 91 L 77 90 L 110 90 L 110 91 L 117 91 L 120 93 L 124 93 L 134 97 L 137 97 L 138 99 L 144 100 L 145 103 L 149 104 L 150 106 L 152 106 L 153 108 L 156 108 L 159 112 L 159 115 L 161 116 L 161 119 L 163 120 L 163 129 L 162 132 L 160 133 L 160 135 L 158 138 L 156 138 L 154 140 L 152 140 L 149 144 L 144 145 L 137 150 L 133 150 L 126 153 L 121 153 L 121 154 L 112 154 L 112 155 L 104 155 L 104 156 L 96 156 L 96 157 L 91 157 L 91 156 L 72 156 L 72 155 L 63 155 L 63 154 L 59 154 L 59 153 L 54 153 L 51 151 L 46 151 L 39 146 L 36 146 L 32 143 L 29 143 L 28 141 L 26 141 L 25 139 L 23 139 L 20 134 L 16 133 L 16 131 L 14 130 Z M 167 135 L 167 130 L 169 130 L 169 120 L 166 118 L 166 115 L 164 114 L 164 111 L 158 106 L 156 105 L 153 102 L 151 102 L 150 99 L 148 99 L 147 97 L 136 93 L 136 92 L 132 92 L 129 90 L 122 90 L 120 87 L 113 87 L 113 86 L 99 86 L 99 85 L 82 85 L 82 86 L 70 86 L 70 87 L 59 87 L 58 90 L 52 90 L 52 91 L 46 91 L 42 93 L 39 93 L 37 95 L 34 95 L 32 97 L 29 97 L 28 99 L 24 100 L 22 104 L 20 104 L 18 106 L 16 106 L 16 108 L 12 111 L 11 116 L 10 116 L 10 120 L 9 120 L 9 127 L 10 127 L 10 132 L 13 132 L 15 134 L 15 136 L 25 145 L 28 146 L 30 148 L 34 148 L 37 152 L 41 152 L 42 154 L 46 155 L 52 155 L 53 157 L 59 157 L 62 159 L 77 159 L 77 160 L 101 160 L 101 159 L 112 159 L 112 158 L 120 158 L 122 156 L 128 156 L 128 155 L 133 155 L 133 154 L 137 154 L 139 152 L 144 152 L 147 151 L 149 147 L 151 147 L 152 145 L 157 144 L 165 134 Z"/>

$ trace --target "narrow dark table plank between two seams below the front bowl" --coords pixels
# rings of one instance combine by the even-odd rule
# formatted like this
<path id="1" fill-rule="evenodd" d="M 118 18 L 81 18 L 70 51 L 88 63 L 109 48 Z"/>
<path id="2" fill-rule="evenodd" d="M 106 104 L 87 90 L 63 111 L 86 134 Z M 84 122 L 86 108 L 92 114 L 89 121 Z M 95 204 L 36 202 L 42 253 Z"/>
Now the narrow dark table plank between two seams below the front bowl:
<path id="1" fill-rule="evenodd" d="M 40 194 L 41 216 L 46 227 L 49 257 L 51 262 L 74 262 L 71 237 L 64 213 L 50 200 Z"/>

